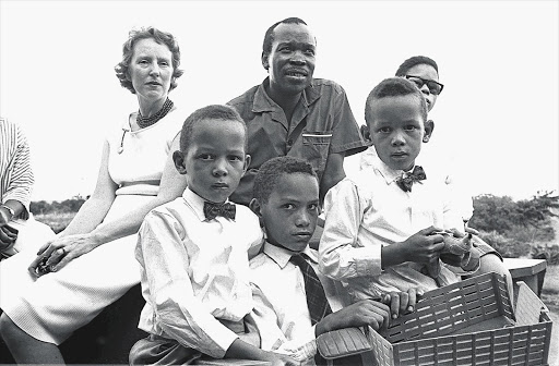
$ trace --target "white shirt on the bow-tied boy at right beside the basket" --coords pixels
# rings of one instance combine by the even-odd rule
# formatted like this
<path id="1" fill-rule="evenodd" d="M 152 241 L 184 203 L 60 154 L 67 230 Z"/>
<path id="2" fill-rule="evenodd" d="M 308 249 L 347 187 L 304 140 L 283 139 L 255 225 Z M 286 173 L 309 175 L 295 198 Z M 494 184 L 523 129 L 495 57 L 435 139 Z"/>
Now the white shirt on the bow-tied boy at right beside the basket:
<path id="1" fill-rule="evenodd" d="M 419 264 L 403 263 L 384 270 L 381 264 L 384 245 L 403 242 L 430 225 L 463 232 L 449 186 L 429 179 L 429 168 L 424 168 L 427 179 L 404 192 L 395 183 L 403 172 L 376 158 L 370 168 L 344 179 L 326 194 L 320 270 L 342 281 L 354 300 L 412 286 L 438 288 L 432 278 L 420 273 Z M 449 283 L 460 280 L 444 265 L 441 274 Z"/>

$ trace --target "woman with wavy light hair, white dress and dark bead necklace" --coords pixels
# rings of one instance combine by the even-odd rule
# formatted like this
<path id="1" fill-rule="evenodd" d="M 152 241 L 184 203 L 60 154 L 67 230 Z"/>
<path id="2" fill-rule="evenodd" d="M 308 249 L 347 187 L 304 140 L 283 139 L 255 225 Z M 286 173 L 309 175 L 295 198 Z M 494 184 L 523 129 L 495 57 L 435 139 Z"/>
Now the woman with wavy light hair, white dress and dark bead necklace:
<path id="1" fill-rule="evenodd" d="M 168 98 L 179 63 L 171 34 L 130 33 L 115 69 L 139 110 L 108 133 L 94 193 L 38 253 L 0 264 L 0 334 L 15 362 L 63 363 L 58 345 L 140 282 L 136 232 L 150 210 L 186 187 L 169 154 L 186 119 Z"/>

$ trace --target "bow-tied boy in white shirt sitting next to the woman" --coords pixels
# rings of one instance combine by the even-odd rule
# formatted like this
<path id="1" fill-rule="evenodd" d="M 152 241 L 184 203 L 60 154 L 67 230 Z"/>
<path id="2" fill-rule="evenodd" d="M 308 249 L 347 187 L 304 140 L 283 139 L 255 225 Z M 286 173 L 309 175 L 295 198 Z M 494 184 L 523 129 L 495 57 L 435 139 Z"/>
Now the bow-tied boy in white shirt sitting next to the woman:
<path id="1" fill-rule="evenodd" d="M 130 351 L 131 365 L 207 356 L 292 362 L 246 334 L 248 249 L 262 243 L 262 231 L 248 207 L 228 203 L 250 162 L 246 148 L 245 122 L 230 107 L 209 106 L 185 121 L 173 158 L 188 188 L 152 210 L 139 232 L 146 301 L 139 328 L 150 335 Z"/>

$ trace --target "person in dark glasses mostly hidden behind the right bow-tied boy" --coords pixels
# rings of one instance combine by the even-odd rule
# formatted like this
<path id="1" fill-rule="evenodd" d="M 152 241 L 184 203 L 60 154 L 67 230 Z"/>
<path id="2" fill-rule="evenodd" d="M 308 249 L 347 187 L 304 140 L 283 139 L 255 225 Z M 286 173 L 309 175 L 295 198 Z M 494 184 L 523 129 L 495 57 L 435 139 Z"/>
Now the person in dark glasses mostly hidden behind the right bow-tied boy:
<path id="1" fill-rule="evenodd" d="M 423 93 L 425 100 L 427 101 L 428 112 L 430 112 L 431 109 L 435 107 L 437 98 L 444 88 L 444 85 L 439 82 L 439 66 L 437 65 L 437 62 L 435 62 L 435 60 L 426 56 L 414 56 L 405 60 L 397 68 L 395 76 L 405 77 L 408 81 L 413 82 L 415 85 L 417 85 L 419 90 Z M 364 138 L 370 144 L 371 138 L 367 126 L 362 125 L 360 131 Z M 373 146 L 370 146 L 367 150 L 361 152 L 360 170 L 367 167 L 371 167 L 372 162 L 376 159 L 376 156 L 377 152 Z M 467 191 L 466 186 L 465 184 L 460 184 L 460 179 L 459 182 L 456 182 L 456 174 L 449 173 L 449 171 L 444 170 L 450 166 L 445 162 L 440 161 L 440 155 L 437 156 L 437 160 L 438 161 L 435 166 L 438 166 L 440 171 L 431 171 L 430 174 L 438 174 L 438 176 L 429 176 L 429 179 L 441 179 L 444 181 L 447 185 L 452 185 L 453 191 L 460 190 L 464 193 L 462 195 L 457 195 L 465 198 L 460 204 L 462 219 L 464 221 L 466 231 L 474 234 L 474 246 L 476 246 L 480 255 L 479 269 L 476 272 L 464 277 L 478 276 L 487 272 L 497 272 L 501 276 L 506 276 L 509 293 L 512 294 L 512 277 L 509 270 L 504 267 L 502 256 L 489 244 L 485 243 L 477 235 L 477 231 L 469 229 L 467 227 L 467 221 L 472 218 L 474 213 L 472 194 L 465 192 Z"/>

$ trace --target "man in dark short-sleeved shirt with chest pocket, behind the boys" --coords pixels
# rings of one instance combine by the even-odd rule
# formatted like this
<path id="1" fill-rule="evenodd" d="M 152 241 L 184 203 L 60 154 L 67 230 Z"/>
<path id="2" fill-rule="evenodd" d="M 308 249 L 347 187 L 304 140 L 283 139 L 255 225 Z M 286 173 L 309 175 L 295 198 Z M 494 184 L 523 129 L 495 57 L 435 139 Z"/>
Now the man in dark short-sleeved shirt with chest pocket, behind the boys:
<path id="1" fill-rule="evenodd" d="M 344 157 L 367 148 L 344 89 L 313 78 L 317 40 L 307 23 L 288 17 L 272 25 L 262 45 L 269 76 L 228 105 L 247 123 L 252 161 L 230 196 L 248 205 L 262 163 L 292 156 L 309 162 L 320 181 L 320 197 L 344 176 Z"/>

